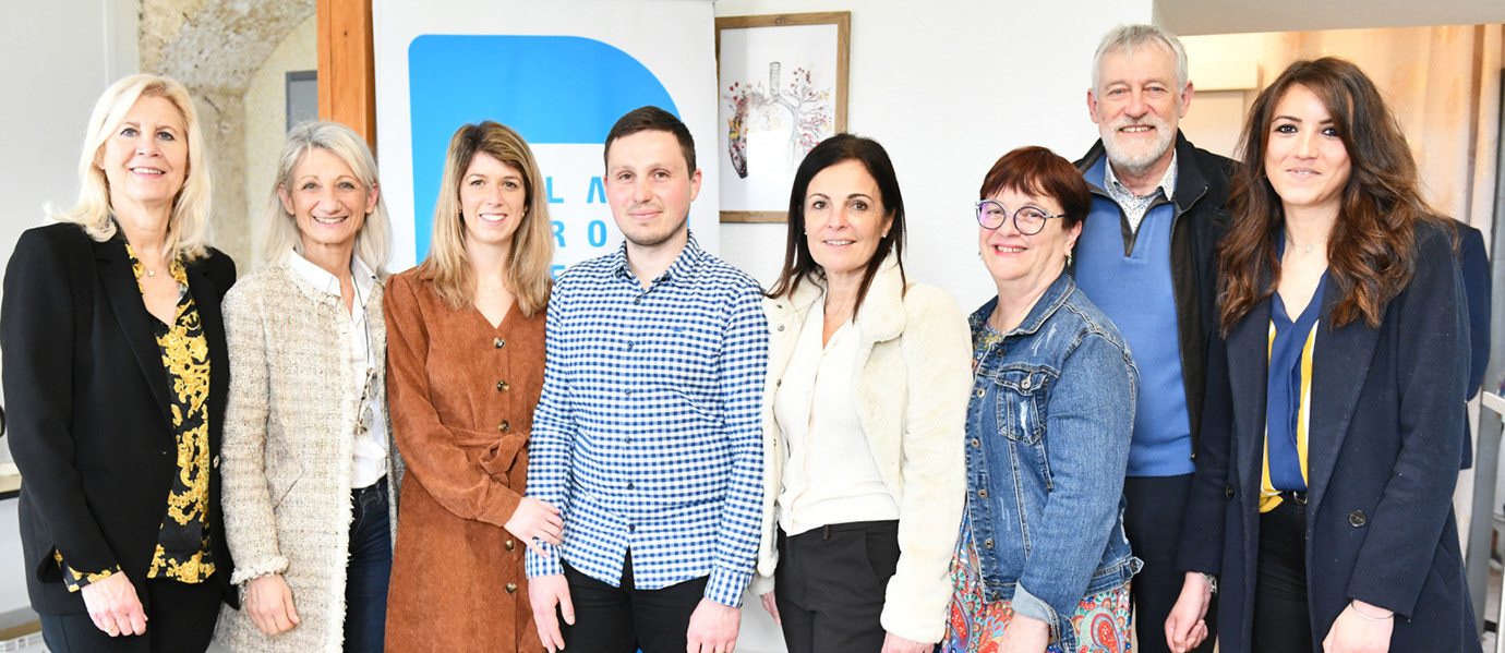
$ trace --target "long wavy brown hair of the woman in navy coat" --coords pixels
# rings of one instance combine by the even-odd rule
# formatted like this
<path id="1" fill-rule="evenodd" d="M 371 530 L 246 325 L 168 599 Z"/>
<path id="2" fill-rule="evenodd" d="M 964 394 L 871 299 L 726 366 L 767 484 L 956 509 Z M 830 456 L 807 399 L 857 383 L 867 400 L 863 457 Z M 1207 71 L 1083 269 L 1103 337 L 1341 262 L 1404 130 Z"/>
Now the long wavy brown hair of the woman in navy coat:
<path id="1" fill-rule="evenodd" d="M 1284 238 L 1285 214 L 1266 178 L 1264 153 L 1275 107 L 1294 86 L 1312 92 L 1332 114 L 1351 162 L 1327 236 L 1329 292 L 1338 293 L 1332 328 L 1359 317 L 1379 326 L 1385 304 L 1416 269 L 1416 223 L 1445 223 L 1421 197 L 1406 135 L 1368 75 L 1338 57 L 1291 63 L 1254 101 L 1240 138 L 1243 166 L 1231 179 L 1228 200 L 1233 227 L 1218 247 L 1224 336 L 1281 281 L 1275 247 Z M 1266 272 L 1269 286 L 1261 284 Z"/>

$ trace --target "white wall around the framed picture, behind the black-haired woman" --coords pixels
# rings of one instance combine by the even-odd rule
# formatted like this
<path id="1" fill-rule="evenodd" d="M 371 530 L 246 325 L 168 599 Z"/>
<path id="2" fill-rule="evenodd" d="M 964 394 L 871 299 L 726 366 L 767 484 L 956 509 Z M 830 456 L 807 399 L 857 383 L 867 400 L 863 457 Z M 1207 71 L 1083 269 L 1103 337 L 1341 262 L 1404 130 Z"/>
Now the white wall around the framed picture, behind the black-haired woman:
<path id="1" fill-rule="evenodd" d="M 1093 51 L 1114 26 L 1148 21 L 1151 2 L 719 0 L 715 11 L 852 12 L 847 129 L 876 138 L 894 159 L 909 214 L 906 271 L 971 311 L 995 293 L 972 217 L 983 175 L 1023 144 L 1069 159 L 1087 153 L 1097 138 L 1087 113 Z M 769 284 L 783 265 L 784 230 L 722 224 L 721 256 Z M 756 599 L 743 605 L 737 650 L 784 650 Z"/>

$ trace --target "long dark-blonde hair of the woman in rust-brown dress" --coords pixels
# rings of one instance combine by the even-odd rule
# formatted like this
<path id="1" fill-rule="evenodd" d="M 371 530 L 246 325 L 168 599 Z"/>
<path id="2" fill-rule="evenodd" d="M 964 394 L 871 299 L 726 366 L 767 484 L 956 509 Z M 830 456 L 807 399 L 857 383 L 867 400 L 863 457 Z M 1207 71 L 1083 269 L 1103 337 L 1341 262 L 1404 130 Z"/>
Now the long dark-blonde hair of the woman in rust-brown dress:
<path id="1" fill-rule="evenodd" d="M 418 265 L 418 277 L 451 307 L 470 305 L 476 290 L 476 268 L 465 251 L 465 217 L 461 215 L 461 178 L 477 153 L 485 152 L 522 173 L 527 214 L 512 236 L 506 283 L 518 298 L 522 314 L 531 317 L 549 301 L 549 265 L 554 262 L 554 235 L 543 175 L 528 143 L 512 128 L 486 120 L 465 125 L 450 138 L 444 156 L 444 179 L 433 203 L 433 236 L 429 256 Z"/>

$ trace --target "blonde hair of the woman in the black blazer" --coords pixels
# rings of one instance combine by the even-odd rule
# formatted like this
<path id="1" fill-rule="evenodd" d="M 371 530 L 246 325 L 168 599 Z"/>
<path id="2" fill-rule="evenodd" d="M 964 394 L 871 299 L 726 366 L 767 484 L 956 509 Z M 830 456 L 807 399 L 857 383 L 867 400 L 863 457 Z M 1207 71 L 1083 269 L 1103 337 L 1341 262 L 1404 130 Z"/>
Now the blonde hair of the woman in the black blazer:
<path id="1" fill-rule="evenodd" d="M 84 227 L 89 236 L 104 242 L 114 238 L 116 223 L 110 208 L 110 179 L 95 164 L 104 143 L 125 120 L 125 114 L 141 98 L 163 98 L 178 107 L 188 129 L 188 172 L 184 187 L 173 199 L 173 211 L 167 220 L 166 251 L 187 260 L 200 259 L 208 253 L 209 162 L 203 150 L 203 131 L 199 128 L 199 113 L 193 98 L 182 83 L 160 75 L 129 75 L 105 89 L 89 116 L 89 131 L 84 132 L 84 149 L 78 155 L 78 200 L 68 211 L 48 206 L 53 220 Z"/>

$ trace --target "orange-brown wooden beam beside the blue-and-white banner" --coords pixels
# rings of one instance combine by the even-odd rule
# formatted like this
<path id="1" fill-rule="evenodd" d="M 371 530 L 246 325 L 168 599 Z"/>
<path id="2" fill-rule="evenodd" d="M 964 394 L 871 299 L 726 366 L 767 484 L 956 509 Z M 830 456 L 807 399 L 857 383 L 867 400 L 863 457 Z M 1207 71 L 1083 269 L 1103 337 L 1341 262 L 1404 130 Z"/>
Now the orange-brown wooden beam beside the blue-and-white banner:
<path id="1" fill-rule="evenodd" d="M 355 129 L 376 149 L 372 0 L 319 2 L 319 119 Z"/>

